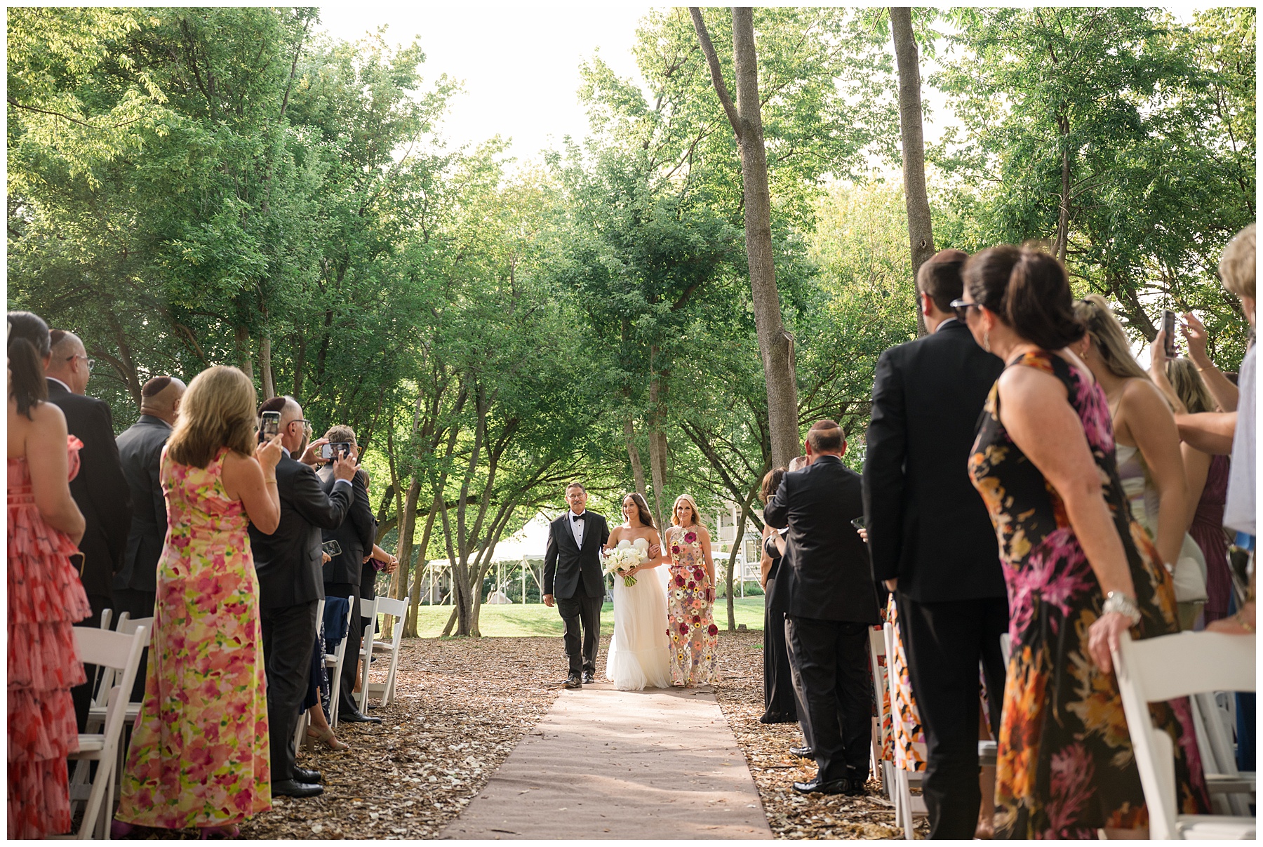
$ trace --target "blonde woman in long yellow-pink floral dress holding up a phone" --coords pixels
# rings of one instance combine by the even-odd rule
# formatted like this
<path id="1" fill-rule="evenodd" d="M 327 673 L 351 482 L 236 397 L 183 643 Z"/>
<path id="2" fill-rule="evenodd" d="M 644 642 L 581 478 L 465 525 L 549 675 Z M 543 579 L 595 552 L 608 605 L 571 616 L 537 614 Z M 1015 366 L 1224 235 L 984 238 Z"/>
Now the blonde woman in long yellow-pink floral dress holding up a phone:
<path id="1" fill-rule="evenodd" d="M 216 366 L 193 377 L 162 457 L 169 529 L 115 836 L 135 826 L 235 836 L 237 823 L 272 808 L 246 526 L 277 529 L 279 459 L 279 439 L 256 448 L 249 376 Z"/>

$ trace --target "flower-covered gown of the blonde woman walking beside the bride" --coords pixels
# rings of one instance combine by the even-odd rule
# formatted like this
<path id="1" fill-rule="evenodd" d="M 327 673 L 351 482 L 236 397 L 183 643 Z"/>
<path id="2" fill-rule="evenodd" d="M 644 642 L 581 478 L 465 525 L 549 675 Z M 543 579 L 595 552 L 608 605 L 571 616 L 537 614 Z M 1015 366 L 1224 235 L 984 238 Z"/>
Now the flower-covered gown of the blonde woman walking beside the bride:
<path id="1" fill-rule="evenodd" d="M 667 576 L 667 635 L 671 636 L 671 684 L 705 685 L 717 682 L 715 655 L 715 586 L 706 576 L 706 555 L 696 530 L 672 526 L 671 569 Z"/>

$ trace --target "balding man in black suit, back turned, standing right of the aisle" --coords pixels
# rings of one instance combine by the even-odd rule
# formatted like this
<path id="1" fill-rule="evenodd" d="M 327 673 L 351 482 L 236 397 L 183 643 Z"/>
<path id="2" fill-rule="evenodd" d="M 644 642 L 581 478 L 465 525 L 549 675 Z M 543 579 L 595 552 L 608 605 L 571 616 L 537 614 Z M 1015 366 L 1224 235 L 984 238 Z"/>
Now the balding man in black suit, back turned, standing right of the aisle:
<path id="1" fill-rule="evenodd" d="M 868 629 L 880 622 L 864 543 L 850 521 L 864 514 L 860 476 L 842 465 L 846 441 L 832 420 L 807 433 L 808 465 L 791 471 L 763 510 L 769 526 L 789 528 L 782 563 L 786 639 L 794 689 L 806 709 L 803 735 L 816 757 L 801 794 L 864 793 L 873 727 Z M 777 587 L 781 591 L 781 587 Z"/>

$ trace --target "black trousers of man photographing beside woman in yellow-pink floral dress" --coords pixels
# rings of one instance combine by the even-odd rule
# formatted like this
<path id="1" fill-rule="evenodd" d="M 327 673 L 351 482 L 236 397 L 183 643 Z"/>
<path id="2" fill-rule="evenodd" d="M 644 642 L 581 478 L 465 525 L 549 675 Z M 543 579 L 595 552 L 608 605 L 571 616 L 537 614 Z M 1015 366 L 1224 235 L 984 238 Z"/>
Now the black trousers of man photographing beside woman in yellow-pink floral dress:
<path id="1" fill-rule="evenodd" d="M 263 660 L 268 668 L 268 741 L 272 781 L 294 778 L 294 730 L 312 668 L 316 641 L 316 605 L 260 608 Z"/>

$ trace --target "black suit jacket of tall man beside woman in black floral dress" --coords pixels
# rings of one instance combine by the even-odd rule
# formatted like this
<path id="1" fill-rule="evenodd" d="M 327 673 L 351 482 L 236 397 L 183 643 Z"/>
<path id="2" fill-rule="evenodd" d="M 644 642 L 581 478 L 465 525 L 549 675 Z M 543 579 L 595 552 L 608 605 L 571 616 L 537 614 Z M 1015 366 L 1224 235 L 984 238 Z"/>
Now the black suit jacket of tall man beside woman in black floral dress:
<path id="1" fill-rule="evenodd" d="M 878 360 L 864 512 L 879 579 L 921 602 L 1005 596 L 995 529 L 969 478 L 978 418 L 1004 362 L 960 321 Z"/>

